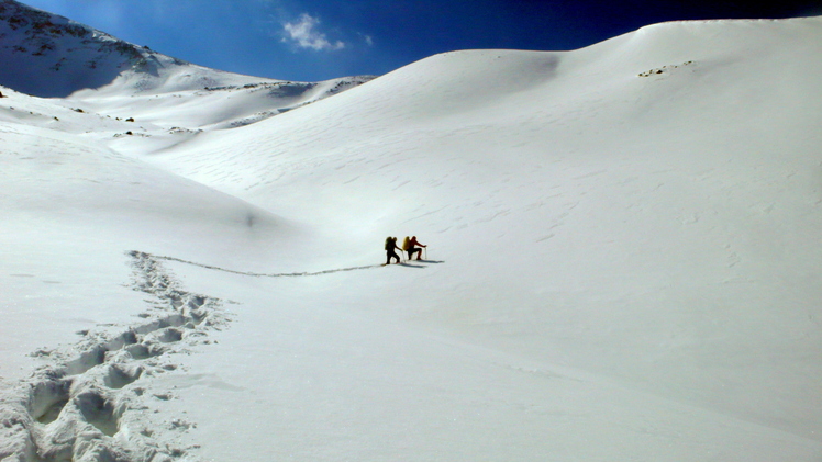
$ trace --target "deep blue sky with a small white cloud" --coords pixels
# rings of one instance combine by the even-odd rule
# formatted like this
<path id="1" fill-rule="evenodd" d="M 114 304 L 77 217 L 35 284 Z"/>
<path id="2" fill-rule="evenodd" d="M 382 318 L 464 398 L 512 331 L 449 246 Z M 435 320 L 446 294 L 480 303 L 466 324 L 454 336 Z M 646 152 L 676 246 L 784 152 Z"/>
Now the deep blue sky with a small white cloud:
<path id="1" fill-rule="evenodd" d="M 382 75 L 455 49 L 567 50 L 670 20 L 822 14 L 822 0 L 23 0 L 201 66 Z"/>

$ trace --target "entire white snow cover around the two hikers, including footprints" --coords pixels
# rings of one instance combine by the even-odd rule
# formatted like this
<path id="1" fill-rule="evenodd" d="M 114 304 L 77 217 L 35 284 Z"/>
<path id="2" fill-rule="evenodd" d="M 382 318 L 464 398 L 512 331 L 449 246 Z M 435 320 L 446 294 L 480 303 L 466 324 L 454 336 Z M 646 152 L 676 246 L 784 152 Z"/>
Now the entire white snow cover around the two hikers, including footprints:
<path id="1" fill-rule="evenodd" d="M 0 460 L 819 461 L 820 75 L 810 18 L 2 87 Z"/>

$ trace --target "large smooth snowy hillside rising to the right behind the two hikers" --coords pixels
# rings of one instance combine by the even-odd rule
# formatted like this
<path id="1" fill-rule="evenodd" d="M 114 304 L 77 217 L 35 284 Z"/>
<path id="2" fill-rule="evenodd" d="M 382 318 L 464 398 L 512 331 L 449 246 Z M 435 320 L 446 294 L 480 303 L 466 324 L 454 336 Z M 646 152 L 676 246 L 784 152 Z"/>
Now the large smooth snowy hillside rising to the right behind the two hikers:
<path id="1" fill-rule="evenodd" d="M 445 54 L 152 160 L 324 230 L 309 268 L 426 236 L 398 318 L 810 437 L 821 26 Z"/>

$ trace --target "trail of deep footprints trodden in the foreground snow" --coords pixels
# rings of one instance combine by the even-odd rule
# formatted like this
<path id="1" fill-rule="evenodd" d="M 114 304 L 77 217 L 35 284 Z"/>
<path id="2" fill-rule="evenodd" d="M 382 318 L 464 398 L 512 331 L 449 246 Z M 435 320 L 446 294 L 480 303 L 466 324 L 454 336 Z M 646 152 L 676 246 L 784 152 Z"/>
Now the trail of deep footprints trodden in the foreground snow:
<path id="1" fill-rule="evenodd" d="M 98 326 L 73 346 L 32 353 L 46 363 L 0 391 L 0 460 L 197 460 L 180 438 L 196 425 L 159 417 L 156 406 L 173 396 L 155 393 L 151 379 L 181 368 L 174 356 L 211 343 L 208 333 L 230 319 L 220 300 L 187 292 L 157 258 L 127 255 L 133 289 L 152 296 L 151 308 L 138 324 Z"/>

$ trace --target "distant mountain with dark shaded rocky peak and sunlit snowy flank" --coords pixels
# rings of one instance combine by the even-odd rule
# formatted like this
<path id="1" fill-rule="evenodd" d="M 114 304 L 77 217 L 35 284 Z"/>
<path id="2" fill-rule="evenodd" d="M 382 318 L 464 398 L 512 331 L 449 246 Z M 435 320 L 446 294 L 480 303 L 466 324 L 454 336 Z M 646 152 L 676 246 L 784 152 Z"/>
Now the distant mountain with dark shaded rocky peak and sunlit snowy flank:
<path id="1" fill-rule="evenodd" d="M 14 64 L 0 69 L 0 84 L 148 124 L 159 112 L 163 131 L 247 125 L 373 78 L 291 82 L 209 69 L 13 0 L 0 2 L 0 59 Z"/>

